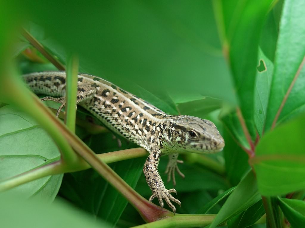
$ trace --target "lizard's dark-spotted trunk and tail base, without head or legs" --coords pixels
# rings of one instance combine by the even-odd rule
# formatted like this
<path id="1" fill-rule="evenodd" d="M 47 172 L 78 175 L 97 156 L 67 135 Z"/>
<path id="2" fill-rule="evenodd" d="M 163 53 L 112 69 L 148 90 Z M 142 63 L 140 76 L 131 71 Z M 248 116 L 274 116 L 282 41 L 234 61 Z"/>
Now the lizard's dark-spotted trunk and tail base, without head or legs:
<path id="1" fill-rule="evenodd" d="M 35 93 L 65 96 L 66 72 L 37 72 L 26 74 L 23 78 Z M 102 78 L 79 74 L 78 85 L 96 89 L 92 99 L 78 105 L 87 109 L 110 130 L 148 151 L 152 150 L 152 145 L 157 145 L 165 125 L 178 118 L 167 115 L 149 102 Z"/>

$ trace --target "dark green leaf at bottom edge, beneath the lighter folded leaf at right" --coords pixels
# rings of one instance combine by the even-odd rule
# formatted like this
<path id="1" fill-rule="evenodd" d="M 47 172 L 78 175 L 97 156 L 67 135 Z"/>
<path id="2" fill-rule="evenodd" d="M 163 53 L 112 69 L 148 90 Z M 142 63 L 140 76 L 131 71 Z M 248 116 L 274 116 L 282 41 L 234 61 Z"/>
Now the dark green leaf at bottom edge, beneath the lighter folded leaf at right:
<path id="1" fill-rule="evenodd" d="M 239 215 L 231 218 L 227 224 L 228 228 L 246 228 L 254 223 L 265 213 L 262 200 L 244 210 Z"/>

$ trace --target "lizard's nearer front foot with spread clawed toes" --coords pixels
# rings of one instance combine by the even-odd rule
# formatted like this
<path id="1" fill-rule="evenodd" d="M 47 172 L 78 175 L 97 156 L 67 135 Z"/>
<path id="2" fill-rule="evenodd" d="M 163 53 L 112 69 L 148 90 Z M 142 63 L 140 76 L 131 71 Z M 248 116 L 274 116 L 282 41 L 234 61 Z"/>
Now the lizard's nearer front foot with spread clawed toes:
<path id="1" fill-rule="evenodd" d="M 149 201 L 152 201 L 156 197 L 159 200 L 160 206 L 163 207 L 164 206 L 163 199 L 164 199 L 165 202 L 167 203 L 167 205 L 173 210 L 174 214 L 176 214 L 176 207 L 170 201 L 177 203 L 180 207 L 181 207 L 181 202 L 180 202 L 180 200 L 178 200 L 178 199 L 174 198 L 172 195 L 170 195 L 170 193 L 172 193 L 172 192 L 177 194 L 177 191 L 174 188 L 169 189 L 169 190 L 164 188 L 163 190 L 153 191 L 152 192 L 153 194 L 149 198 Z"/>

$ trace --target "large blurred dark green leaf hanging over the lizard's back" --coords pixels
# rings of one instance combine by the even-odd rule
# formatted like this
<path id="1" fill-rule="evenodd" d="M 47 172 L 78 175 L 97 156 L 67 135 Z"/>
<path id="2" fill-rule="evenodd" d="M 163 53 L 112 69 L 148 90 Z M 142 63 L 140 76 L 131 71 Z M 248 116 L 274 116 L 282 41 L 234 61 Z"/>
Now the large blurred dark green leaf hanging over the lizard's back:
<path id="1" fill-rule="evenodd" d="M 199 95 L 235 102 L 211 1 L 20 5 L 45 32 L 37 39 L 61 60 L 66 49 L 77 52 L 81 71 L 136 95 L 134 85 L 176 103 Z"/>

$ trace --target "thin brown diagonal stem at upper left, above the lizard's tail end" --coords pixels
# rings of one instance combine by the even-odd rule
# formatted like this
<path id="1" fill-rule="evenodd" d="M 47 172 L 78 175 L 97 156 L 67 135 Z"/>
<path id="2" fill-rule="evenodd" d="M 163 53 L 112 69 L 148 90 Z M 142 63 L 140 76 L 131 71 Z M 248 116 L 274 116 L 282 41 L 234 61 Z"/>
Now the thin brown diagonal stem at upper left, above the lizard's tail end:
<path id="1" fill-rule="evenodd" d="M 43 47 L 41 43 L 38 42 L 27 30 L 21 28 L 22 35 L 32 44 L 40 53 L 46 57 L 57 69 L 60 71 L 65 71 L 65 66 L 54 58 L 47 50 Z"/>

